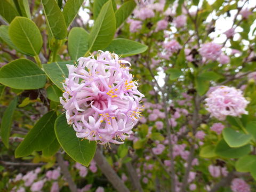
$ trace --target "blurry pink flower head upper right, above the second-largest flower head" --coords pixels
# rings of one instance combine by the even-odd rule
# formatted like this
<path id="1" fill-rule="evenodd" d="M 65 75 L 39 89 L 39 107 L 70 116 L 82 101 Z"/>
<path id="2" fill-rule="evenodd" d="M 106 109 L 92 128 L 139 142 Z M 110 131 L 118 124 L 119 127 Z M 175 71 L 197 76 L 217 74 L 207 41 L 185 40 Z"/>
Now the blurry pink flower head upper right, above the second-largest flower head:
<path id="1" fill-rule="evenodd" d="M 203 44 L 198 51 L 202 57 L 215 61 L 220 57 L 221 48 L 221 45 L 210 42 Z"/>

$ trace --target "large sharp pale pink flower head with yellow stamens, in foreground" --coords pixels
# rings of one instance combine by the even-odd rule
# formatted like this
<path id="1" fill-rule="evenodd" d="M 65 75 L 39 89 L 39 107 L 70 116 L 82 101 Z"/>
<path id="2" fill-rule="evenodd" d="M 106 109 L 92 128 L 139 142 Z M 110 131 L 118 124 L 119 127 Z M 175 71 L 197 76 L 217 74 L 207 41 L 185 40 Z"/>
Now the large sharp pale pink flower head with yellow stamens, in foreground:
<path id="1" fill-rule="evenodd" d="M 141 116 L 139 102 L 144 95 L 126 65 L 131 64 L 108 51 L 99 51 L 97 59 L 94 55 L 79 58 L 77 66 L 67 65 L 69 75 L 60 102 L 78 138 L 101 145 L 122 144 L 132 134 Z"/>

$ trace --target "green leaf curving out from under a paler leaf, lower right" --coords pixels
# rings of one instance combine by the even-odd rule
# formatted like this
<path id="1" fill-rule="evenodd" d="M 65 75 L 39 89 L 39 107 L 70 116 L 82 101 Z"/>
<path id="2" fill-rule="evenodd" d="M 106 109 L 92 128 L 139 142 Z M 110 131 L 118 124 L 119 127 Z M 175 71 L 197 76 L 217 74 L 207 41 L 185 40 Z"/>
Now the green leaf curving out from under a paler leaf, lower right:
<path id="1" fill-rule="evenodd" d="M 215 153 L 224 158 L 239 158 L 249 154 L 251 151 L 250 145 L 238 148 L 231 148 L 224 139 L 220 140 L 215 148 Z"/>

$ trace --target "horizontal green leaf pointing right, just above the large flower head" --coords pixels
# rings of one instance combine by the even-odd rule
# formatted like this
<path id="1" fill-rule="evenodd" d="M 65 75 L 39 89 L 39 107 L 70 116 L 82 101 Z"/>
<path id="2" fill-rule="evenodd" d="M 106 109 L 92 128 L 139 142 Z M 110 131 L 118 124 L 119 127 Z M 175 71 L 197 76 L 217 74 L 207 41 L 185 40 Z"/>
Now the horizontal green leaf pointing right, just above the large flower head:
<path id="1" fill-rule="evenodd" d="M 124 38 L 116 38 L 103 50 L 114 52 L 122 57 L 143 53 L 148 49 L 148 46 L 141 43 L 131 41 Z"/>

